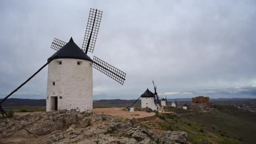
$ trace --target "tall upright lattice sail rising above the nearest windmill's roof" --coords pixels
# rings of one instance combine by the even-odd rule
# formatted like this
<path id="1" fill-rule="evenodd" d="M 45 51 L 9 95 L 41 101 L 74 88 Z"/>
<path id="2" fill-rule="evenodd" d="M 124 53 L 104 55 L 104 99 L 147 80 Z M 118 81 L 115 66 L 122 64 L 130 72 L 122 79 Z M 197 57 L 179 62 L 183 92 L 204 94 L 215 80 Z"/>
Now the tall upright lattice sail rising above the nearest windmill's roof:
<path id="1" fill-rule="evenodd" d="M 89 19 L 85 31 L 85 38 L 83 40 L 82 50 L 87 54 L 87 51 L 93 52 L 96 38 L 99 31 L 99 25 L 101 23 L 102 11 L 92 9 L 89 13 Z"/>

